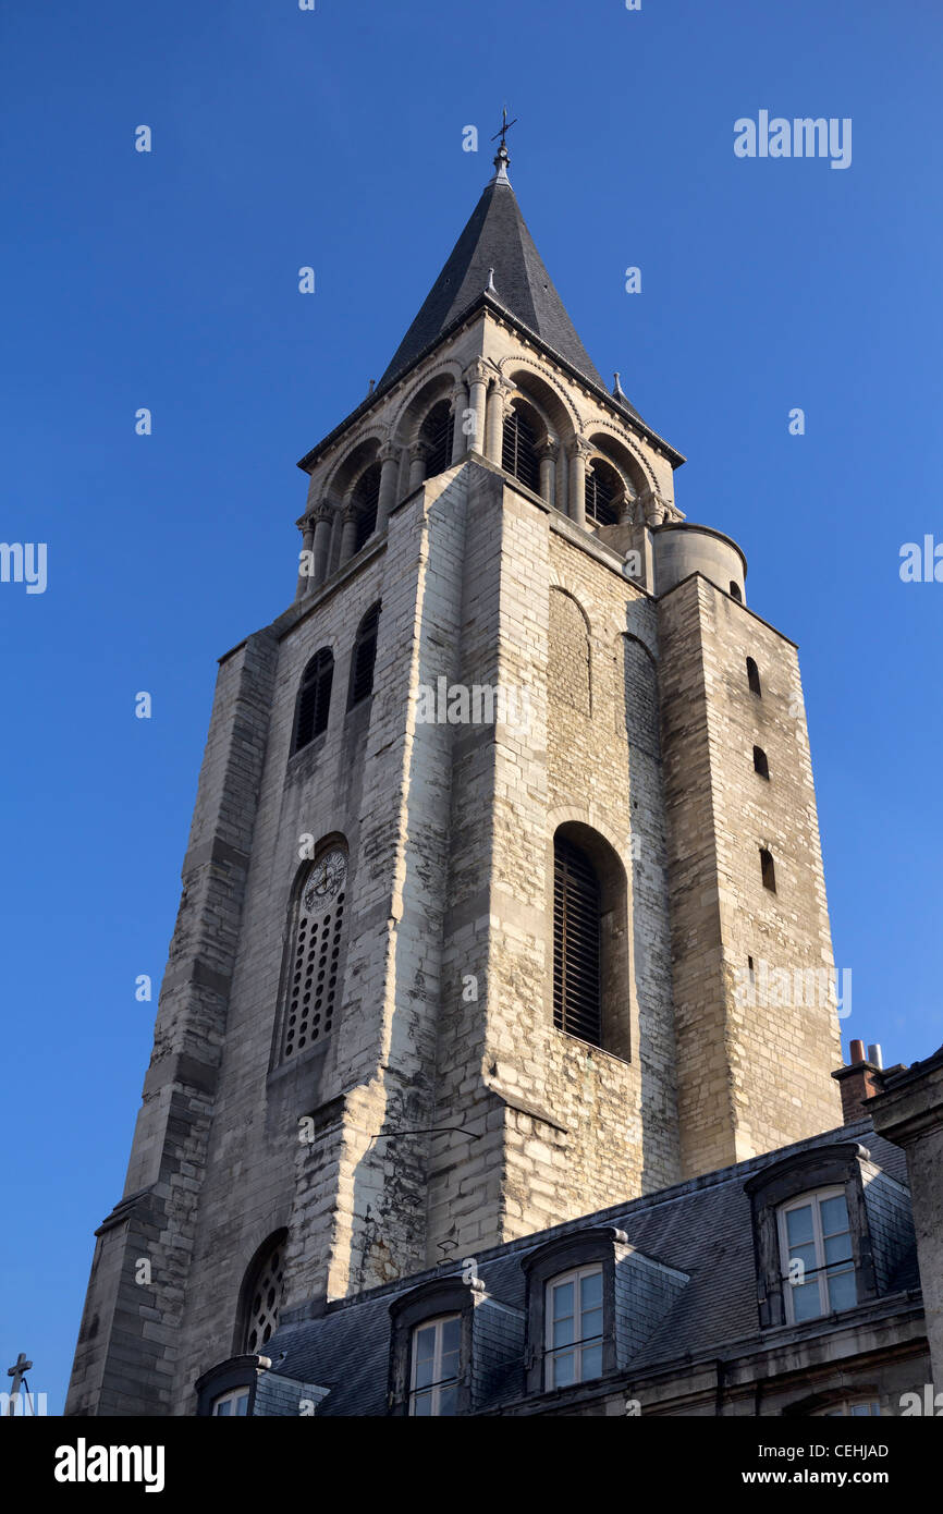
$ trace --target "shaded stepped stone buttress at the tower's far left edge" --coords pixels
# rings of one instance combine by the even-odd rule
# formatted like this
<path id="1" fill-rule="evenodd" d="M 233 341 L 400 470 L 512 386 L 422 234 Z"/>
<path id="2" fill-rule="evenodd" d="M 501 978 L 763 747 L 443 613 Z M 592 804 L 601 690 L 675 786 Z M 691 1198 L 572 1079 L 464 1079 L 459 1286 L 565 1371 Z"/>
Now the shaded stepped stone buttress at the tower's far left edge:
<path id="1" fill-rule="evenodd" d="M 124 1199 L 98 1231 L 67 1414 L 174 1402 L 274 666 L 260 633 L 219 669 L 144 1104 Z"/>

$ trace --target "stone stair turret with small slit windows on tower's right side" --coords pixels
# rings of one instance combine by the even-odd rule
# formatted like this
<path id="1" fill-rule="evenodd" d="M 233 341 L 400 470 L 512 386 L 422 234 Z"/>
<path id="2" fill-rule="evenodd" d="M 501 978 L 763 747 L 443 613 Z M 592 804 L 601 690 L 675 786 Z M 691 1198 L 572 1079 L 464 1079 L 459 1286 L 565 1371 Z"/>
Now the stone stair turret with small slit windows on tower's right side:
<path id="1" fill-rule="evenodd" d="M 840 1040 L 795 648 L 699 575 L 658 601 L 658 622 L 689 1176 L 840 1125 L 829 1076 Z M 769 780 L 754 771 L 754 745 Z M 763 887 L 760 848 L 773 855 L 776 893 Z"/>

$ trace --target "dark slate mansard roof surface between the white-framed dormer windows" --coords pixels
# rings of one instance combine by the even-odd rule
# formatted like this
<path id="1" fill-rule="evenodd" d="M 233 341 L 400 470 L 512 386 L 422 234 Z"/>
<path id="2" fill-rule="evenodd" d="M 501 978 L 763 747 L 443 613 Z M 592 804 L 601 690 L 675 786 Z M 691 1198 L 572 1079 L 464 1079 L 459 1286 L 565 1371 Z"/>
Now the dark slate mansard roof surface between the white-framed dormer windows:
<path id="1" fill-rule="evenodd" d="M 630 1204 L 492 1248 L 477 1255 L 475 1272 L 492 1301 L 507 1310 L 522 1311 L 525 1278 L 521 1263 L 528 1252 L 548 1240 L 592 1226 L 615 1226 L 625 1231 L 628 1243 L 645 1258 L 689 1276 L 677 1301 L 643 1340 L 624 1376 L 637 1379 L 655 1367 L 730 1350 L 739 1341 L 755 1340 L 760 1334 L 746 1179 L 798 1152 L 854 1142 L 864 1145 L 870 1161 L 907 1188 L 904 1152 L 876 1136 L 870 1120 L 858 1120 Z M 328 1304 L 316 1319 L 289 1317 L 266 1346 L 272 1370 L 285 1378 L 325 1387 L 328 1391 L 318 1407 L 319 1416 L 386 1414 L 391 1305 L 421 1282 L 454 1279 L 460 1273 L 460 1261 L 454 1260 L 400 1282 Z M 910 1288 L 919 1288 L 913 1240 L 881 1291 L 887 1297 Z M 811 1326 L 822 1323 L 811 1322 Z M 507 1366 L 504 1391 L 498 1388 L 492 1408 L 522 1394 L 521 1360 L 512 1360 Z"/>

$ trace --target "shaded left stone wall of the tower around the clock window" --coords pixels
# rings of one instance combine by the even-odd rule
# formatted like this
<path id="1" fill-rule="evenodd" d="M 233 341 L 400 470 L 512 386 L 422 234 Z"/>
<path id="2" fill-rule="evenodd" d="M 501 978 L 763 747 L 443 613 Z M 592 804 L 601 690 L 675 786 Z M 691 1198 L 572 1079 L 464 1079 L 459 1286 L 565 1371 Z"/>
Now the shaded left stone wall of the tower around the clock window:
<path id="1" fill-rule="evenodd" d="M 430 480 L 391 518 L 386 551 L 368 548 L 282 640 L 180 1402 L 233 1349 L 245 1266 L 282 1225 L 286 1308 L 424 1261 L 451 730 L 419 722 L 413 695 L 448 671 L 462 531 L 463 484 Z M 372 699 L 348 712 L 353 631 L 378 598 Z M 289 757 L 295 693 L 319 646 L 335 654 L 327 733 Z M 268 1070 L 303 834 L 350 846 L 342 1014 L 322 1048 Z M 300 1140 L 307 1114 L 312 1142 Z"/>

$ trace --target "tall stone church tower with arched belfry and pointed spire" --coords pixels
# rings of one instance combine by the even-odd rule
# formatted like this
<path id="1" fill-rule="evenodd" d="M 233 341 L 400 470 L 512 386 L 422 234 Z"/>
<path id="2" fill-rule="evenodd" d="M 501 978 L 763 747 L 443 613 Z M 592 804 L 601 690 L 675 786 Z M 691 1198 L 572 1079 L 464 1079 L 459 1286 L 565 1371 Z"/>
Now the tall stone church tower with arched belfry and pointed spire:
<path id="1" fill-rule="evenodd" d="M 751 993 L 833 972 L 796 648 L 507 167 L 221 659 L 67 1413 L 194 1413 L 279 1308 L 842 1122 L 834 1007 Z"/>

